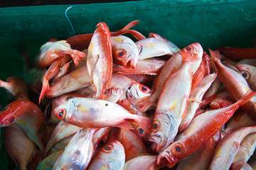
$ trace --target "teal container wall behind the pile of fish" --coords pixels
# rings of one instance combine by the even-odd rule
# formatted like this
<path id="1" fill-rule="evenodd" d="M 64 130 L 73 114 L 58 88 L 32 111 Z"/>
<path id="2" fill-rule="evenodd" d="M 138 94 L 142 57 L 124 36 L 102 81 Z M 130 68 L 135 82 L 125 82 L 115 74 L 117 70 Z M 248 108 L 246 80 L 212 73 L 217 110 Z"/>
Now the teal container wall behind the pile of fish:
<path id="1" fill-rule="evenodd" d="M 102 21 L 110 30 L 119 30 L 134 20 L 140 23 L 133 29 L 144 35 L 159 33 L 181 48 L 191 42 L 200 42 L 206 51 L 220 46 L 251 47 L 256 35 L 256 1 L 154 0 L 0 8 L 0 79 L 21 75 L 20 45 L 33 62 L 39 47 L 50 38 L 64 40 L 92 33 Z M 2 89 L 0 99 L 6 106 Z M 3 148 L 0 164 L 0 169 L 8 165 Z"/>

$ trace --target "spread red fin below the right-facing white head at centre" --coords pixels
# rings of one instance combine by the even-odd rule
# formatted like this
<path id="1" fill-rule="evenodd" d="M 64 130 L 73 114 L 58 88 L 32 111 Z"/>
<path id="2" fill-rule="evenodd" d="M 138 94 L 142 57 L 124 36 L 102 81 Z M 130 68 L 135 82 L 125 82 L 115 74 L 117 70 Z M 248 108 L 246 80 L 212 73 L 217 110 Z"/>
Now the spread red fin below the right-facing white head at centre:
<path id="1" fill-rule="evenodd" d="M 143 98 L 137 98 L 132 101 L 132 104 L 137 107 L 140 111 L 145 112 L 147 111 L 150 106 L 152 106 L 156 102 L 156 99 L 154 98 L 154 94 L 151 94 L 151 96 L 145 96 Z"/>

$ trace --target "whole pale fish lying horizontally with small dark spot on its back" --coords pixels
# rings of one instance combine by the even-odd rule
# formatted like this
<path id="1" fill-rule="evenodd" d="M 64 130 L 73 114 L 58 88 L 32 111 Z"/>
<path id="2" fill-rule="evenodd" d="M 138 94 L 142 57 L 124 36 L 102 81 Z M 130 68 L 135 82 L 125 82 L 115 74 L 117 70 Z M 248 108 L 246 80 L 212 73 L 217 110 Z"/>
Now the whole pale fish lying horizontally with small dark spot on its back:
<path id="1" fill-rule="evenodd" d="M 80 128 L 121 126 L 131 128 L 129 120 L 149 132 L 151 118 L 133 115 L 125 108 L 109 101 L 94 98 L 71 98 L 54 109 L 56 118 Z"/>

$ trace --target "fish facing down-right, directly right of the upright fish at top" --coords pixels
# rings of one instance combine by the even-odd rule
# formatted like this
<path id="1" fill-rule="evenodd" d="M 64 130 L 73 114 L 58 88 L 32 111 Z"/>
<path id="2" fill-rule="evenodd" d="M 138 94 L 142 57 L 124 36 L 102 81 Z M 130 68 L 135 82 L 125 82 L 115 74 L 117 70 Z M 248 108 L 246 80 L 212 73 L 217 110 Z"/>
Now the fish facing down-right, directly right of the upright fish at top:
<path id="1" fill-rule="evenodd" d="M 113 60 L 123 67 L 137 67 L 139 52 L 135 42 L 119 35 L 111 37 Z"/>

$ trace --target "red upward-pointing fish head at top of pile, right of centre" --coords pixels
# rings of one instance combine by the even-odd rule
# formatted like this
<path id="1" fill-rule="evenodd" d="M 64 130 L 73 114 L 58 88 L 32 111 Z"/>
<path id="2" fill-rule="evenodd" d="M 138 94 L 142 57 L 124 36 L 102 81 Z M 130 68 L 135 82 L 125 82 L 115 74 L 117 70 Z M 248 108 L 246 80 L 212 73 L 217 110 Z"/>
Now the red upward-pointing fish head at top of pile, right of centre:
<path id="1" fill-rule="evenodd" d="M 203 47 L 198 43 L 192 43 L 179 51 L 183 62 L 196 62 L 202 60 Z"/>

